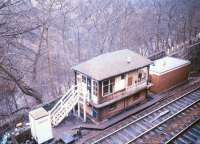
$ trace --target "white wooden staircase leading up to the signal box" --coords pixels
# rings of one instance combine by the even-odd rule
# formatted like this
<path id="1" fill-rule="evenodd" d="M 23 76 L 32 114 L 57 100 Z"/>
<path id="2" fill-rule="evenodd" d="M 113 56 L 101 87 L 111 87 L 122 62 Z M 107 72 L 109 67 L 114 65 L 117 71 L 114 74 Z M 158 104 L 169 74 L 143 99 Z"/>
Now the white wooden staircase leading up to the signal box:
<path id="1" fill-rule="evenodd" d="M 79 101 L 78 86 L 72 86 L 67 93 L 56 103 L 56 105 L 49 111 L 51 123 L 57 126 L 62 120 L 68 116 L 69 112 L 75 107 Z"/>

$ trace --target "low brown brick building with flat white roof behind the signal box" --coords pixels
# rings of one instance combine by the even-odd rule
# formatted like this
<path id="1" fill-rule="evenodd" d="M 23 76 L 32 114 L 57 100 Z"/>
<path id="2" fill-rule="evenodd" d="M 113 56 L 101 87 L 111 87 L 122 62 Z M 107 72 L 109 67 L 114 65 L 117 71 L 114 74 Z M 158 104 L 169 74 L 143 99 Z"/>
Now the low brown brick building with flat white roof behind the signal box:
<path id="1" fill-rule="evenodd" d="M 172 88 L 188 79 L 190 61 L 174 57 L 155 60 L 150 66 L 152 92 L 159 93 Z"/>

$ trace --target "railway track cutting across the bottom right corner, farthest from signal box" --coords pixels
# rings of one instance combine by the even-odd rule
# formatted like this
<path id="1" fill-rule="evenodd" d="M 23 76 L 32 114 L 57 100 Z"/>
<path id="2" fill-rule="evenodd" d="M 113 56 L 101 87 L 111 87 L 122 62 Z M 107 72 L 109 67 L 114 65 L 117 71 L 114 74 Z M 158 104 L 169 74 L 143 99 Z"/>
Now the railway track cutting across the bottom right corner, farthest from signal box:
<path id="1" fill-rule="evenodd" d="M 166 142 L 166 144 L 188 143 L 200 143 L 200 117 Z"/>

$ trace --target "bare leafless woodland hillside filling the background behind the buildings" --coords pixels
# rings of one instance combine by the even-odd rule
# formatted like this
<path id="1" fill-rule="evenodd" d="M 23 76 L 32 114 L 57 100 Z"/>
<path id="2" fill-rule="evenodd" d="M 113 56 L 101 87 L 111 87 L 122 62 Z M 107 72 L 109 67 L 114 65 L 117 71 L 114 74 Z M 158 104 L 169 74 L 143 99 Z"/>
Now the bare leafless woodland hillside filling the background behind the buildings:
<path id="1" fill-rule="evenodd" d="M 199 32 L 199 0 L 0 0 L 0 119 L 61 96 L 86 59 L 167 52 Z"/>

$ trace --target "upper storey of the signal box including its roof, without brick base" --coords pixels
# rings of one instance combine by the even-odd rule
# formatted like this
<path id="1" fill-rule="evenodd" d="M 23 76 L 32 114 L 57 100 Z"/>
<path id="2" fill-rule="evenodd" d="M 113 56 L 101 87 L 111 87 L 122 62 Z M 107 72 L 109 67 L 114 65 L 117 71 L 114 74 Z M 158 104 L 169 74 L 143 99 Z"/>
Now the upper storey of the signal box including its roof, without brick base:
<path id="1" fill-rule="evenodd" d="M 100 58 L 103 62 L 91 59 L 73 67 L 75 82 L 81 85 L 89 103 L 103 107 L 148 86 L 150 60 L 130 50 L 104 54 Z"/>

